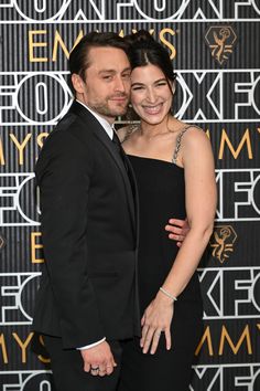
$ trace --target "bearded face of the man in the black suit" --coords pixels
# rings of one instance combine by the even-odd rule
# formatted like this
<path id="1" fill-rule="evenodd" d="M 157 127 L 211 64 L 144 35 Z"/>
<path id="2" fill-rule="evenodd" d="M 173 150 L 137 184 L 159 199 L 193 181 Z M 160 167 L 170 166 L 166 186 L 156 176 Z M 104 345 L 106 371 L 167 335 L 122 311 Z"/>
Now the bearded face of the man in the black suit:
<path id="1" fill-rule="evenodd" d="M 130 63 L 127 54 L 116 47 L 91 47 L 85 82 L 75 75 L 76 97 L 112 123 L 123 115 L 130 95 Z"/>

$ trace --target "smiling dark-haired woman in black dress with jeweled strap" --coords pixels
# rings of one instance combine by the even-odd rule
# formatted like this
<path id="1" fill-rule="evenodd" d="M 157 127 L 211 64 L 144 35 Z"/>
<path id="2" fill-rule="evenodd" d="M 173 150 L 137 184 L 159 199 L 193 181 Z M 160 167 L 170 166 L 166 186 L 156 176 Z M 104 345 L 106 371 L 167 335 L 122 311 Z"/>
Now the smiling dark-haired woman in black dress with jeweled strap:
<path id="1" fill-rule="evenodd" d="M 119 391 L 187 391 L 202 332 L 196 268 L 216 210 L 214 158 L 204 131 L 171 115 L 174 73 L 148 32 L 130 41 L 131 104 L 140 125 L 119 130 L 140 199 L 142 337 L 124 346 Z M 181 250 L 163 235 L 167 216 L 187 216 Z"/>

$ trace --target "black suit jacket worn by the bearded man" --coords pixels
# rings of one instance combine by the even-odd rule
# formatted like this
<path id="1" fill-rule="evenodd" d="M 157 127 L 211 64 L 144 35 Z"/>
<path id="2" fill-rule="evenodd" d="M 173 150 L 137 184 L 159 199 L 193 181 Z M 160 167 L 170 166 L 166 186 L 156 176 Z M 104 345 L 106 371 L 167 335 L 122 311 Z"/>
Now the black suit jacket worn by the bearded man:
<path id="1" fill-rule="evenodd" d="M 77 102 L 40 154 L 45 264 L 33 328 L 62 337 L 64 348 L 140 334 L 131 175 L 105 129 Z"/>

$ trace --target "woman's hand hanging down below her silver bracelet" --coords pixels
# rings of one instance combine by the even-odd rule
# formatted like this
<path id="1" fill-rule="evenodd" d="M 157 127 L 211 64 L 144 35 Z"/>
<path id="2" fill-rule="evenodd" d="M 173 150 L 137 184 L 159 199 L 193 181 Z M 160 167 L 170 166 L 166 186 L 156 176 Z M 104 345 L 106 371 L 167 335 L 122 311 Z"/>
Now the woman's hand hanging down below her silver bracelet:
<path id="1" fill-rule="evenodd" d="M 141 320 L 142 338 L 140 346 L 143 353 L 147 353 L 150 348 L 151 355 L 155 353 L 161 332 L 165 334 L 166 349 L 171 349 L 172 340 L 170 327 L 172 318 L 173 302 L 159 292 L 154 300 L 145 309 Z"/>

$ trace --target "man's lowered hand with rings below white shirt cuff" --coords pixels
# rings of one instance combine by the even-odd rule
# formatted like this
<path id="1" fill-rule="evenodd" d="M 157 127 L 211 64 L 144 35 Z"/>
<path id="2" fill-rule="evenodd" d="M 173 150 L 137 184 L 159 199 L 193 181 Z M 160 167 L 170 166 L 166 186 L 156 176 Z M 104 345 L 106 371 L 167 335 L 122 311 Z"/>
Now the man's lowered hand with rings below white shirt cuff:
<path id="1" fill-rule="evenodd" d="M 93 348 L 83 349 L 80 353 L 84 361 L 84 371 L 90 372 L 93 376 L 111 374 L 113 368 L 117 367 L 110 347 L 106 341 Z"/>

